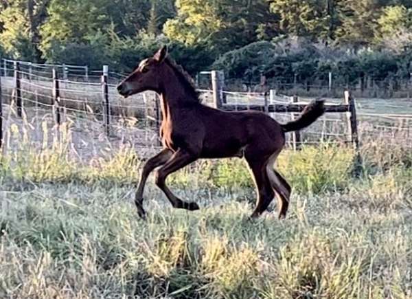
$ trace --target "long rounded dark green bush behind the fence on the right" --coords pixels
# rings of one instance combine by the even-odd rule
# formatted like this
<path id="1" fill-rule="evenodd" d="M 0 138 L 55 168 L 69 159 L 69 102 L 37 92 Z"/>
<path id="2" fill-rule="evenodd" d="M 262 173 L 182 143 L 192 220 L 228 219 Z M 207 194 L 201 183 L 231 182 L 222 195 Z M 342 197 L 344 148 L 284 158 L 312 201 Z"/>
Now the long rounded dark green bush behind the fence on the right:
<path id="1" fill-rule="evenodd" d="M 211 66 L 223 69 L 229 78 L 258 81 L 260 74 L 267 78 L 293 83 L 325 80 L 328 72 L 334 74 L 338 85 L 355 85 L 358 79 L 369 76 L 374 80 L 409 78 L 411 54 L 361 49 L 341 49 L 308 43 L 290 38 L 276 42 L 251 43 L 220 56 Z"/>

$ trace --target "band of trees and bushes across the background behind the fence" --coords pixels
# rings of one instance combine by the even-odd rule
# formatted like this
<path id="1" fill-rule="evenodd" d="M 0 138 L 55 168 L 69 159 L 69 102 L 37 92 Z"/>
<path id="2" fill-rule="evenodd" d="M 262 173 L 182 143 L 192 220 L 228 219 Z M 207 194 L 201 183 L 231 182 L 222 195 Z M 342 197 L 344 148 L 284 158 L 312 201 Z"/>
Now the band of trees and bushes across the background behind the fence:
<path id="1" fill-rule="evenodd" d="M 352 85 L 409 78 L 411 15 L 407 0 L 16 0 L 1 3 L 0 45 L 13 58 L 127 72 L 167 44 L 191 74 L 310 85 L 333 71 Z"/>

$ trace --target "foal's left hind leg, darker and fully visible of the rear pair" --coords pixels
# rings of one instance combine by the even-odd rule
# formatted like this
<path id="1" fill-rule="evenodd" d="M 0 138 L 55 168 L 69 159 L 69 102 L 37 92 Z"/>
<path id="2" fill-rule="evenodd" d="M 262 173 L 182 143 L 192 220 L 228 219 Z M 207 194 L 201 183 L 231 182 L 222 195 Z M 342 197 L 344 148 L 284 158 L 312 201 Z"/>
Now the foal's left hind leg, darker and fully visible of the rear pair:
<path id="1" fill-rule="evenodd" d="M 256 191 L 258 192 L 256 207 L 251 215 L 252 218 L 256 218 L 268 208 L 273 197 L 275 197 L 275 192 L 273 192 L 266 174 L 266 160 L 262 159 L 262 157 L 246 157 L 246 159 L 253 174 Z"/>

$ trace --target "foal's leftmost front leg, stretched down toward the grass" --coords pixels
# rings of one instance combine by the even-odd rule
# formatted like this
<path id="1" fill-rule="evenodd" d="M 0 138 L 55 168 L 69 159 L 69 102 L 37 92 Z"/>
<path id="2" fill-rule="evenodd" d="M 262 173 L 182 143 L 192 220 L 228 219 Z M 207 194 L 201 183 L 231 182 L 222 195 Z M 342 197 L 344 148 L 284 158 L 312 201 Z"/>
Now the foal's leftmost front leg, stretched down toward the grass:
<path id="1" fill-rule="evenodd" d="M 139 181 L 139 186 L 137 187 L 137 192 L 135 196 L 135 204 L 137 207 L 137 213 L 139 217 L 145 218 L 146 212 L 143 208 L 143 193 L 144 193 L 144 186 L 146 185 L 146 181 L 148 180 L 148 176 L 150 173 L 157 167 L 162 166 L 168 159 L 172 157 L 172 151 L 168 148 L 164 148 L 160 153 L 148 159 L 148 161 L 144 164 L 143 170 L 141 170 L 141 176 Z"/>

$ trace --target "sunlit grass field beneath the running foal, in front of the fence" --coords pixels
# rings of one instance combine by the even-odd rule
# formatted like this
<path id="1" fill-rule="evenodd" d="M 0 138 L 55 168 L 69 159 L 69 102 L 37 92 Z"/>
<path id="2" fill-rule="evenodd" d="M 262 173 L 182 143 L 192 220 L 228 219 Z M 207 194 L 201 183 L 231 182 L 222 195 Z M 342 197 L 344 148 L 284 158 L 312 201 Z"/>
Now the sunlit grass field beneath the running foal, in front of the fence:
<path id="1" fill-rule="evenodd" d="M 133 206 L 130 148 L 80 161 L 69 137 L 1 157 L 0 298 L 412 298 L 412 154 L 364 141 L 284 151 L 294 188 L 249 221 L 255 195 L 240 159 L 169 179 L 198 212 L 173 210 L 152 181 L 148 220 Z"/>

